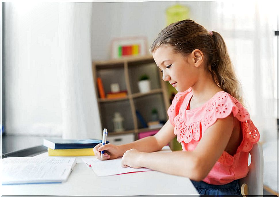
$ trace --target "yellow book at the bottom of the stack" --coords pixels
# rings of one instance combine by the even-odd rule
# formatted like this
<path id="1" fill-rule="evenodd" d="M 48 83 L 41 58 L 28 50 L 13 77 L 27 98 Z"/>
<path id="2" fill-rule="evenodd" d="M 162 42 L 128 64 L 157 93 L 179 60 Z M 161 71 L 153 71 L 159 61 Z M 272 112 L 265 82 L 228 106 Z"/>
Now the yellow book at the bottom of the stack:
<path id="1" fill-rule="evenodd" d="M 94 155 L 93 148 L 76 149 L 51 149 L 48 148 L 48 156 L 88 156 Z"/>

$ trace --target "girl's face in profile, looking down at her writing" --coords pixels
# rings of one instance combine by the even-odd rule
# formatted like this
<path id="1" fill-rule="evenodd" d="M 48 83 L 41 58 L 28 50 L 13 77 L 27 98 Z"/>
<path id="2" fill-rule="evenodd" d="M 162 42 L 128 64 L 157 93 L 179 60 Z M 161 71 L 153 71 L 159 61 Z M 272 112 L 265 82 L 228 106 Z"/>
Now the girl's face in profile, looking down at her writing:
<path id="1" fill-rule="evenodd" d="M 178 92 L 183 92 L 196 83 L 198 69 L 191 54 L 185 57 L 174 53 L 170 46 L 161 46 L 154 51 L 153 58 L 163 72 L 163 80 L 168 81 Z"/>

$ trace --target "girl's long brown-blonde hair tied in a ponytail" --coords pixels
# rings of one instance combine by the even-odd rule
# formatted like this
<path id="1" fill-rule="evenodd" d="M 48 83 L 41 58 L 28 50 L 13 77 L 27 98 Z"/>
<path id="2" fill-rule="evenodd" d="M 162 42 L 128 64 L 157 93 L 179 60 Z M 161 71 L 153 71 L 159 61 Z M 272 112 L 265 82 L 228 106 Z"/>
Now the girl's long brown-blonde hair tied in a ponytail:
<path id="1" fill-rule="evenodd" d="M 200 49 L 205 54 L 206 65 L 209 65 L 206 69 L 215 83 L 243 104 L 241 84 L 236 78 L 226 44 L 218 32 L 211 34 L 193 20 L 181 20 L 165 27 L 149 51 L 153 53 L 160 46 L 171 46 L 175 53 L 184 55 Z"/>

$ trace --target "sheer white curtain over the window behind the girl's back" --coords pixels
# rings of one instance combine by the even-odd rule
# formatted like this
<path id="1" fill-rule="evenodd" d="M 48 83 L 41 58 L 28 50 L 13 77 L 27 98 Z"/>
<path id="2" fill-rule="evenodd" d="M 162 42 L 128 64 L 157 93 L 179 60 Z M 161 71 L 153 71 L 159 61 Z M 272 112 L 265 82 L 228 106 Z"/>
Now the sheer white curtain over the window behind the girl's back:
<path id="1" fill-rule="evenodd" d="M 276 5 L 277 4 L 277 5 Z M 275 1 L 213 3 L 209 29 L 221 33 L 238 79 L 244 105 L 259 129 L 261 141 L 277 138 L 277 26 Z M 277 10 L 276 10 L 277 9 Z"/>

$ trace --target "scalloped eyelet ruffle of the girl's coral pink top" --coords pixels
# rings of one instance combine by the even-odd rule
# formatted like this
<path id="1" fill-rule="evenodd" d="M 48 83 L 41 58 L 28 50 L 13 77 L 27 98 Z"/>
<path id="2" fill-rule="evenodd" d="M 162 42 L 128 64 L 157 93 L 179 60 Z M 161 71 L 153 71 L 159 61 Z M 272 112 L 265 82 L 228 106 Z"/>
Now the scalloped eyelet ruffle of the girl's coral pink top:
<path id="1" fill-rule="evenodd" d="M 185 103 L 189 98 L 186 99 Z M 170 120 L 175 126 L 174 134 L 177 135 L 177 141 L 189 143 L 193 139 L 199 141 L 207 128 L 213 125 L 217 119 L 226 118 L 231 113 L 241 122 L 244 137 L 238 152 L 247 152 L 259 140 L 259 132 L 250 119 L 249 112 L 227 92 L 217 92 L 202 107 L 192 110 L 183 109 Z M 230 157 L 230 159 L 232 158 Z"/>

